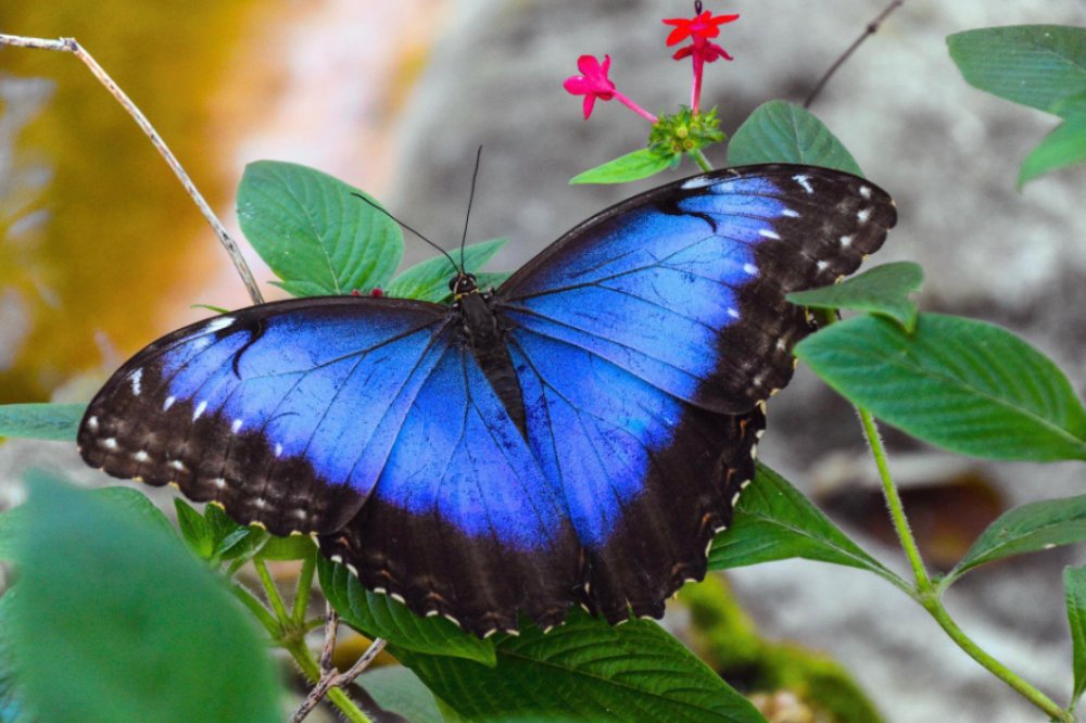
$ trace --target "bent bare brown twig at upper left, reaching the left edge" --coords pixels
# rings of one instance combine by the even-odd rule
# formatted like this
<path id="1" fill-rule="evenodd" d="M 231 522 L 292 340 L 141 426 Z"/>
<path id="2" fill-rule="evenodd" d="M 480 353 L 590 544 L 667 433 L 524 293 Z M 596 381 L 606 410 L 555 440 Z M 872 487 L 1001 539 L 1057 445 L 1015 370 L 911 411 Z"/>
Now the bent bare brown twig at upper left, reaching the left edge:
<path id="1" fill-rule="evenodd" d="M 212 229 L 215 231 L 215 236 L 218 237 L 219 242 L 226 249 L 226 252 L 230 255 L 230 261 L 233 262 L 235 268 L 237 268 L 238 274 L 241 276 L 242 282 L 245 284 L 245 289 L 249 290 L 249 295 L 252 297 L 253 303 L 261 304 L 264 302 L 264 297 L 261 295 L 261 290 L 256 286 L 256 280 L 253 278 L 253 272 L 249 269 L 249 265 L 245 263 L 244 257 L 241 255 L 241 250 L 238 248 L 238 243 L 227 232 L 223 223 L 218 220 L 215 213 L 207 205 L 203 195 L 197 190 L 195 185 L 189 175 L 181 167 L 181 164 L 177 161 L 177 157 L 173 154 L 166 142 L 162 140 L 162 136 L 154 129 L 151 123 L 147 119 L 143 113 L 132 103 L 131 99 L 125 94 L 125 91 L 113 81 L 113 78 L 106 74 L 102 66 L 98 64 L 90 53 L 83 49 L 83 47 L 76 41 L 75 38 L 60 38 L 58 40 L 49 40 L 46 38 L 27 38 L 18 35 L 4 35 L 0 34 L 0 46 L 14 46 L 16 48 L 37 48 L 40 50 L 55 50 L 65 53 L 72 53 L 78 58 L 84 65 L 86 65 L 90 72 L 98 78 L 99 83 L 105 86 L 105 89 L 117 99 L 117 102 L 128 112 L 135 120 L 136 124 L 147 134 L 147 137 L 151 139 L 151 143 L 159 150 L 159 154 L 166 161 L 166 165 L 169 166 L 174 175 L 177 176 L 177 180 L 181 182 L 185 190 L 188 192 L 189 196 L 200 208 L 200 213 L 203 214 L 204 218 L 211 225 Z"/>

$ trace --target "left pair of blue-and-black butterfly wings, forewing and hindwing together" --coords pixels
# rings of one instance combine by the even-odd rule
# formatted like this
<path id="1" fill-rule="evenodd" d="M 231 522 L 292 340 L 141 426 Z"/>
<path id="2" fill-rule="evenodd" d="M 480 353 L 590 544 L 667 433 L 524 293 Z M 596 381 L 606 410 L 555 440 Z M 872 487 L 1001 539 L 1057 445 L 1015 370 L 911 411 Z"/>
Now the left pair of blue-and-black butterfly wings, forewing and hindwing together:
<path id="1" fill-rule="evenodd" d="M 518 608 L 555 624 L 580 546 L 458 333 L 447 307 L 351 296 L 202 321 L 113 376 L 80 452 L 239 522 L 318 533 L 419 614 L 479 635 L 515 629 Z"/>

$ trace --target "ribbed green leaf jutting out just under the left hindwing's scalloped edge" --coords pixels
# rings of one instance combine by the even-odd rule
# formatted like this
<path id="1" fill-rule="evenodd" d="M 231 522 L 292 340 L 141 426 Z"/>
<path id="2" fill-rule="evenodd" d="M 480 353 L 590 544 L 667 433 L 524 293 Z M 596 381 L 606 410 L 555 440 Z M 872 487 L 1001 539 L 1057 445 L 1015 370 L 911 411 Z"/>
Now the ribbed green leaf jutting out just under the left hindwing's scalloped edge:
<path id="1" fill-rule="evenodd" d="M 319 556 L 317 574 L 320 589 L 343 621 L 369 637 L 382 637 L 397 649 L 494 664 L 491 640 L 469 635 L 444 618 L 416 616 L 388 595 L 370 593 L 346 567 Z"/>

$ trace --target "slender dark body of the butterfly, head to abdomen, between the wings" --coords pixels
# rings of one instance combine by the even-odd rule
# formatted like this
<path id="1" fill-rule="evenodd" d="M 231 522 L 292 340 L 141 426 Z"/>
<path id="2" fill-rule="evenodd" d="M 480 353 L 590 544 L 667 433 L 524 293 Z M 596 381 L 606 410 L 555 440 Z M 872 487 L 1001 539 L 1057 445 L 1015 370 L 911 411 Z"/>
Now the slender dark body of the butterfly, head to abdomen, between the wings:
<path id="1" fill-rule="evenodd" d="M 458 281 L 460 283 L 457 283 Z M 464 340 L 487 376 L 487 381 L 502 401 L 502 406 L 509 414 L 509 418 L 527 439 L 525 399 L 517 370 L 513 366 L 505 330 L 494 309 L 491 308 L 490 296 L 475 288 L 473 277 L 458 276 L 450 286 L 454 292 L 459 292 L 467 286 L 464 281 L 470 283 L 470 290 L 467 293 L 455 293 L 454 304 L 454 308 L 459 312 Z"/>

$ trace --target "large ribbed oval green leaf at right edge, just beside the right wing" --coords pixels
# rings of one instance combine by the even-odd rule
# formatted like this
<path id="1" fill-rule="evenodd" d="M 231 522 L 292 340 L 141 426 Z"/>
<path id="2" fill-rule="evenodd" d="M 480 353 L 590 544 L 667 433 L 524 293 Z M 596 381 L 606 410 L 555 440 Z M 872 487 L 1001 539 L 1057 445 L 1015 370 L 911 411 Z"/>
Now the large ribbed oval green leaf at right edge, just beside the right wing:
<path id="1" fill-rule="evenodd" d="M 1063 372 L 1000 327 L 921 314 L 912 334 L 874 316 L 796 356 L 853 403 L 913 436 L 987 459 L 1086 459 L 1086 409 Z"/>

